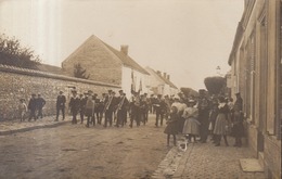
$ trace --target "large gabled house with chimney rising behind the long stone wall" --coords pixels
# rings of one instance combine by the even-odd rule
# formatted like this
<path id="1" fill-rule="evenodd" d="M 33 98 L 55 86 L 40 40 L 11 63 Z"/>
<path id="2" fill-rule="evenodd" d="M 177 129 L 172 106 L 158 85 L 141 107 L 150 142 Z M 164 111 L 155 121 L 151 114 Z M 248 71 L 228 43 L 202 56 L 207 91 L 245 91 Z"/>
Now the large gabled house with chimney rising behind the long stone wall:
<path id="1" fill-rule="evenodd" d="M 62 68 L 74 76 L 76 64 L 86 69 L 90 80 L 119 85 L 127 94 L 131 90 L 148 92 L 150 74 L 128 55 L 128 46 L 118 51 L 92 35 L 62 62 Z"/>

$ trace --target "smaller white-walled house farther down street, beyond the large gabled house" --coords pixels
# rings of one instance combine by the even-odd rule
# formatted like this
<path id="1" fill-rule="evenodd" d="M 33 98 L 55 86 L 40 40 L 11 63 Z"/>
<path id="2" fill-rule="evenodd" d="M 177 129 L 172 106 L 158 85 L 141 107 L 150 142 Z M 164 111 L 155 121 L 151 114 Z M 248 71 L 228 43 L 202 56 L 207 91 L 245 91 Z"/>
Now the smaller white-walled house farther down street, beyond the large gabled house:
<path id="1" fill-rule="evenodd" d="M 150 93 L 153 94 L 163 94 L 163 95 L 174 95 L 179 92 L 178 88 L 170 81 L 170 76 L 159 71 L 154 71 L 151 67 L 145 67 L 149 72 L 149 89 Z"/>

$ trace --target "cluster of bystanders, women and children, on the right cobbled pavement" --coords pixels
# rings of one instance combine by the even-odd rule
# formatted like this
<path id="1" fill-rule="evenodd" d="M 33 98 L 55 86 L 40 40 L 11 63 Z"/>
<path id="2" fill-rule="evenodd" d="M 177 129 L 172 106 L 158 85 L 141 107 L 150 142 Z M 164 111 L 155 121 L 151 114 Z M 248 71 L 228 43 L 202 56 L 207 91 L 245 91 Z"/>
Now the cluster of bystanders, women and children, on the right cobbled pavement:
<path id="1" fill-rule="evenodd" d="M 228 146 L 230 135 L 234 137 L 234 146 L 242 146 L 241 138 L 244 136 L 243 126 L 243 100 L 240 93 L 236 93 L 236 101 L 232 98 L 207 97 L 200 93 L 198 98 L 180 97 L 175 99 L 171 104 L 170 115 L 167 120 L 165 133 L 167 133 L 167 145 L 169 145 L 170 136 L 184 136 L 187 142 L 206 143 L 208 137 L 215 143 L 220 145 L 223 137 Z M 198 140 L 197 140 L 198 139 Z"/>

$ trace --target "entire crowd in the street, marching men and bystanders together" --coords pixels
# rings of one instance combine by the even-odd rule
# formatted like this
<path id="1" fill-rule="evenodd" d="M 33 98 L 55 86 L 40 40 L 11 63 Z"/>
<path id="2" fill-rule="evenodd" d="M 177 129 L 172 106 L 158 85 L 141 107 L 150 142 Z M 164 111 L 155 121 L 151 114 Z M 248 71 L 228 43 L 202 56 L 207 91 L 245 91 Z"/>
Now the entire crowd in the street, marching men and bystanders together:
<path id="1" fill-rule="evenodd" d="M 241 146 L 241 138 L 244 135 L 243 128 L 243 100 L 240 93 L 236 93 L 236 101 L 222 95 L 208 97 L 205 92 L 200 92 L 200 97 L 184 95 L 179 93 L 176 97 L 151 94 L 140 94 L 131 91 L 132 97 L 129 99 L 123 90 L 118 95 L 113 90 L 103 93 L 102 98 L 89 90 L 84 94 L 78 94 L 76 90 L 72 91 L 72 98 L 66 104 L 66 97 L 60 91 L 56 98 L 56 117 L 59 120 L 62 113 L 62 120 L 65 119 L 65 108 L 72 114 L 72 124 L 85 123 L 86 127 L 103 125 L 103 127 L 124 127 L 133 123 L 139 127 L 145 125 L 149 119 L 149 113 L 155 114 L 155 127 L 166 124 L 165 133 L 167 133 L 167 144 L 169 145 L 170 136 L 184 136 L 187 142 L 202 143 L 207 142 L 208 137 L 214 141 L 216 146 L 220 145 L 223 137 L 226 145 L 229 145 L 227 135 L 235 138 L 234 146 Z M 21 99 L 18 106 L 21 122 L 24 115 L 29 111 L 30 122 L 33 118 L 42 118 L 42 108 L 46 104 L 44 99 L 38 94 L 31 94 L 28 105 L 25 100 Z M 200 139 L 200 140 L 197 140 Z"/>

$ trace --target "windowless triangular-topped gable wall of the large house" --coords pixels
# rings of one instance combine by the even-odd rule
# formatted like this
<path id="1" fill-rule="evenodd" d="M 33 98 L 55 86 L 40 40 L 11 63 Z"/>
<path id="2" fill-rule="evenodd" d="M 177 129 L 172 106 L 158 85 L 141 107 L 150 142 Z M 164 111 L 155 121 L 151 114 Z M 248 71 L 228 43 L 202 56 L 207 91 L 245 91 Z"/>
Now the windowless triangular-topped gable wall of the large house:
<path id="1" fill-rule="evenodd" d="M 121 86 L 120 60 L 94 36 L 70 54 L 62 63 L 62 68 L 74 76 L 74 65 L 77 63 L 90 75 L 89 79 Z"/>

